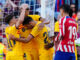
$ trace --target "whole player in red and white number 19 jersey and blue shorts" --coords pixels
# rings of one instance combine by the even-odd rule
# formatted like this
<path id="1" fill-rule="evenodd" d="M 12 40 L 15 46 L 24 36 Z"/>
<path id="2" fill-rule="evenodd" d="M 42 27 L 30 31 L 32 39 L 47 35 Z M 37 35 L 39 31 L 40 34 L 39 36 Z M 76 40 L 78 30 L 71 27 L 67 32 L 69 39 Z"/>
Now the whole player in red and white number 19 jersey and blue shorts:
<path id="1" fill-rule="evenodd" d="M 70 6 L 62 5 L 60 7 L 62 18 L 59 20 L 59 34 L 55 41 L 60 41 L 54 60 L 75 60 L 74 40 L 77 37 L 77 24 L 69 16 Z"/>

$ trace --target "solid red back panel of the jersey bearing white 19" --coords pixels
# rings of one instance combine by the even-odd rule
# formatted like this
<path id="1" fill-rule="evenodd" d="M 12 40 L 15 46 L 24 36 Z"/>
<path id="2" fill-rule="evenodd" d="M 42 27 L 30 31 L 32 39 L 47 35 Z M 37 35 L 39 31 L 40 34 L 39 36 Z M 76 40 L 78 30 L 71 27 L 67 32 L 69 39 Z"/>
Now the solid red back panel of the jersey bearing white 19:
<path id="1" fill-rule="evenodd" d="M 76 21 L 70 17 L 66 17 L 66 21 L 63 21 L 63 28 L 65 29 L 65 31 L 63 30 L 64 33 L 64 37 L 63 37 L 63 44 L 73 44 L 73 41 L 75 40 L 76 37 L 76 31 L 77 31 L 77 24 Z"/>

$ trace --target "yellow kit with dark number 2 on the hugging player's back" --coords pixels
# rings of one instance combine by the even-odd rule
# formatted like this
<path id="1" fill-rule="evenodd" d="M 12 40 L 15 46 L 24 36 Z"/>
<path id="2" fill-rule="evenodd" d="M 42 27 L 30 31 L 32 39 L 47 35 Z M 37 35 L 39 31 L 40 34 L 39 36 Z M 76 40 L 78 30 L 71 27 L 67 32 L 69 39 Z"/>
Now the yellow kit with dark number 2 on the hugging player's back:
<path id="1" fill-rule="evenodd" d="M 32 29 L 31 34 L 34 36 L 35 43 L 38 47 L 39 59 L 40 60 L 51 60 L 53 55 L 53 48 L 46 50 L 45 45 L 50 43 L 48 37 L 47 27 L 44 26 L 42 30 L 39 30 L 39 24 L 37 22 L 36 26 Z"/>

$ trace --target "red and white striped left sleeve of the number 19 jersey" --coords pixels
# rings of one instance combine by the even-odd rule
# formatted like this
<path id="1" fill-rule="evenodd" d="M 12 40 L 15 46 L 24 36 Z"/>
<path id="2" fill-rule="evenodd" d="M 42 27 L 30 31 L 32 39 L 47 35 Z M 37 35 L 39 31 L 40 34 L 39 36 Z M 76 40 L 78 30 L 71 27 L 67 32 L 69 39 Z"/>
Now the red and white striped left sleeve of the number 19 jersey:
<path id="1" fill-rule="evenodd" d="M 55 41 L 62 39 L 62 37 L 65 35 L 65 22 L 66 17 L 59 20 L 59 34 L 55 38 Z"/>

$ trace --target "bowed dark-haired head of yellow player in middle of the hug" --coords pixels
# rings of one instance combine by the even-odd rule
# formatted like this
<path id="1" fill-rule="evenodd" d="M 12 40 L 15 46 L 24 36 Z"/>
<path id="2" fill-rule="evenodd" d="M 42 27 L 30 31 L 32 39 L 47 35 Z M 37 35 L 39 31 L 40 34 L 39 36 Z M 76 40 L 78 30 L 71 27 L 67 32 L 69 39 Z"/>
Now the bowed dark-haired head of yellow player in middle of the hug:
<path id="1" fill-rule="evenodd" d="M 24 18 L 24 21 L 23 21 L 24 27 L 27 27 L 28 29 L 32 29 L 34 27 L 34 23 L 35 21 L 31 17 L 26 16 Z"/>

